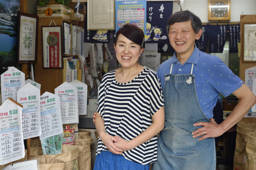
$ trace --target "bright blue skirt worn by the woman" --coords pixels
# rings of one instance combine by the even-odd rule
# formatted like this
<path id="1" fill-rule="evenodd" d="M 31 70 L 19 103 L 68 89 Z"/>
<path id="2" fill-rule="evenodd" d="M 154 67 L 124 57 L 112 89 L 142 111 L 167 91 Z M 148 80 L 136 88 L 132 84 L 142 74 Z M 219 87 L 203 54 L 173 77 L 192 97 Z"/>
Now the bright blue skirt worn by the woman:
<path id="1" fill-rule="evenodd" d="M 148 165 L 141 165 L 116 155 L 110 151 L 101 151 L 95 158 L 93 170 L 149 170 Z"/>

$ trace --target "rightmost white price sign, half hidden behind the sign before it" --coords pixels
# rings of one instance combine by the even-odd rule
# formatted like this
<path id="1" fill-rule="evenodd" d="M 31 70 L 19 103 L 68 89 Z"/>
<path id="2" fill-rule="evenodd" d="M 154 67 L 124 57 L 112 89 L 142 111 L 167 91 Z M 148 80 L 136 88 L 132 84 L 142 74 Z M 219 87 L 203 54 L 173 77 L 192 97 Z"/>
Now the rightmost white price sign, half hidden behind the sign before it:
<path id="1" fill-rule="evenodd" d="M 78 80 L 69 83 L 77 88 L 78 115 L 87 115 L 87 85 Z"/>

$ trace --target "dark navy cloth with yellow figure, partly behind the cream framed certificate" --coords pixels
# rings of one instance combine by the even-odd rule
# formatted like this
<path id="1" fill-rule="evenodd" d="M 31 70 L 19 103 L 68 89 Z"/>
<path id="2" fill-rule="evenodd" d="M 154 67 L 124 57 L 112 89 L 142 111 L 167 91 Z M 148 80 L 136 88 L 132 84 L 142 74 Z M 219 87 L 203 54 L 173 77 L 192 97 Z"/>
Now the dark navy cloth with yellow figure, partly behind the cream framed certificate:
<path id="1" fill-rule="evenodd" d="M 85 3 L 87 9 L 87 3 Z M 87 10 L 85 12 L 87 18 Z M 84 43 L 109 43 L 110 30 L 87 30 L 87 21 L 84 22 Z"/>

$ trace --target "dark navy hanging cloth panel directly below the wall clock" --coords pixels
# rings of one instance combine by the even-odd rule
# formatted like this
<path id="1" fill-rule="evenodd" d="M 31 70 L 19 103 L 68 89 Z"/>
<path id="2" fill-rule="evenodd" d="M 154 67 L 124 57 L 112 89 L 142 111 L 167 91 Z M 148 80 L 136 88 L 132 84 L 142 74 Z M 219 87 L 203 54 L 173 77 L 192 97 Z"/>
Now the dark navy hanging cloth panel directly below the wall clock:
<path id="1" fill-rule="evenodd" d="M 227 25 L 210 26 L 209 33 L 209 53 L 222 53 L 227 38 Z"/>

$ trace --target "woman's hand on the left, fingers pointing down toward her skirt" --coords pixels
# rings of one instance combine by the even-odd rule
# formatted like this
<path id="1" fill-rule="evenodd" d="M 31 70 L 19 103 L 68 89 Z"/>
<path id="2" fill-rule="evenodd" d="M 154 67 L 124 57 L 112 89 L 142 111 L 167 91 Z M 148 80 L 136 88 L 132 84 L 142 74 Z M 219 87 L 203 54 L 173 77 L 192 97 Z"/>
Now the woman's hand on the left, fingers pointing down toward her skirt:
<path id="1" fill-rule="evenodd" d="M 100 139 L 102 140 L 102 142 L 105 144 L 105 146 L 108 148 L 108 150 L 114 154 L 117 155 L 122 155 L 122 149 L 118 149 L 118 147 L 116 147 L 114 142 L 117 142 L 118 140 L 114 137 L 111 136 L 107 133 L 102 133 L 100 135 Z"/>

